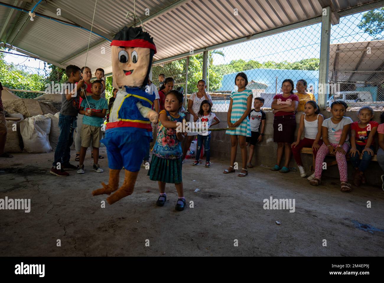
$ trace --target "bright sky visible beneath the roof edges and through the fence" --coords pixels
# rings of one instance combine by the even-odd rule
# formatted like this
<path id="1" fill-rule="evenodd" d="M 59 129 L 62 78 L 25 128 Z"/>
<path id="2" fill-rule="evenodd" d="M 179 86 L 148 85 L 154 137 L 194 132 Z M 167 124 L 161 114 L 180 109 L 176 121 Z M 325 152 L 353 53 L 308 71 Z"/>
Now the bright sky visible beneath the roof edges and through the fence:
<path id="1" fill-rule="evenodd" d="M 364 33 L 357 26 L 361 22 L 362 14 L 358 13 L 340 18 L 340 23 L 333 25 L 331 28 L 331 44 L 372 40 L 370 35 Z M 231 60 L 238 59 L 245 61 L 252 59 L 259 62 L 266 62 L 268 60 L 295 62 L 306 58 L 319 58 L 320 34 L 321 24 L 318 23 L 224 47 L 218 49 L 224 53 L 224 57 L 217 54 L 213 55 L 214 65 L 227 64 Z M 34 74 L 44 74 L 42 70 L 38 70 L 44 68 L 44 63 L 41 60 L 6 54 L 5 61 L 7 63 L 28 66 L 30 68 L 26 70 Z"/>

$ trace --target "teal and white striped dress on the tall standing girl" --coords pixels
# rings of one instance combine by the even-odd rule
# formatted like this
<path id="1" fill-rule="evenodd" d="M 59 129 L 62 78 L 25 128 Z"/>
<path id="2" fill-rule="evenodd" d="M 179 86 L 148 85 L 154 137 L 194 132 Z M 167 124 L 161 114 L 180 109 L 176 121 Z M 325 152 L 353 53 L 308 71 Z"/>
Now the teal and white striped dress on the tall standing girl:
<path id="1" fill-rule="evenodd" d="M 231 123 L 237 122 L 244 112 L 247 111 L 247 98 L 252 95 L 252 90 L 245 89 L 242 92 L 232 92 L 232 112 L 231 112 Z M 245 117 L 243 122 L 236 127 L 236 130 L 227 130 L 225 134 L 228 135 L 240 135 L 240 136 L 251 136 L 251 126 L 249 123 L 248 116 Z"/>

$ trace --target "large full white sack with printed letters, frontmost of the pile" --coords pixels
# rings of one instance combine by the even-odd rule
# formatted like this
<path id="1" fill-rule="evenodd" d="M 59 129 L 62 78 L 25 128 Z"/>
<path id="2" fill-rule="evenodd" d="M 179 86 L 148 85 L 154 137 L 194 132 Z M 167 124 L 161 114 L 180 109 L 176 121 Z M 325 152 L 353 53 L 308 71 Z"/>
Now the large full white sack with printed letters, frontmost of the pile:
<path id="1" fill-rule="evenodd" d="M 51 151 L 48 135 L 37 124 L 34 117 L 20 122 L 20 132 L 23 138 L 24 151 L 42 153 Z"/>

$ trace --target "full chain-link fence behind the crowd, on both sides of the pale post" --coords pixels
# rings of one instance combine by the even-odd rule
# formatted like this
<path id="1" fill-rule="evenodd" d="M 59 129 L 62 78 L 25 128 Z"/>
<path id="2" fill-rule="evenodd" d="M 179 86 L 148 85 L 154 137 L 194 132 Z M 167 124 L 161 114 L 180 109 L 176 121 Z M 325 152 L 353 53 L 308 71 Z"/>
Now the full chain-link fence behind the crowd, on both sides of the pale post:
<path id="1" fill-rule="evenodd" d="M 368 7 L 369 8 L 369 7 Z M 337 17 L 337 14 L 334 14 Z M 384 108 L 384 7 L 339 18 L 331 27 L 329 93 L 326 106 L 344 100 L 349 109 L 370 105 Z M 248 89 L 263 97 L 268 108 L 281 92 L 284 79 L 304 79 L 308 92 L 318 100 L 321 23 L 287 30 L 267 37 L 212 50 L 208 54 L 207 90 L 215 112 L 227 112 L 230 93 L 236 90 L 235 75 L 245 72 Z M 158 75 L 175 79 L 175 87 L 185 86 L 186 60 L 154 66 Z M 203 54 L 189 57 L 188 96 L 197 91 L 202 78 Z M 185 88 L 185 87 L 184 87 Z M 296 91 L 296 90 L 294 90 Z"/>

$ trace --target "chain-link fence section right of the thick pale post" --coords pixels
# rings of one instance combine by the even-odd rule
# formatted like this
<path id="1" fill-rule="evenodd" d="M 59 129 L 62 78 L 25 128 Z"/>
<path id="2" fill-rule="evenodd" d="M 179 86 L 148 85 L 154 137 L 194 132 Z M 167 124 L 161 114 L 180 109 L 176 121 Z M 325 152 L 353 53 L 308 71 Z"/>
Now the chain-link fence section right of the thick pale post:
<path id="1" fill-rule="evenodd" d="M 327 106 L 384 109 L 384 7 L 340 18 L 331 29 Z"/>

